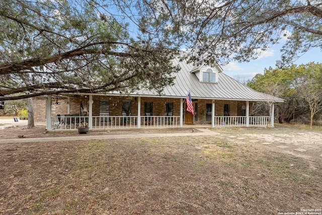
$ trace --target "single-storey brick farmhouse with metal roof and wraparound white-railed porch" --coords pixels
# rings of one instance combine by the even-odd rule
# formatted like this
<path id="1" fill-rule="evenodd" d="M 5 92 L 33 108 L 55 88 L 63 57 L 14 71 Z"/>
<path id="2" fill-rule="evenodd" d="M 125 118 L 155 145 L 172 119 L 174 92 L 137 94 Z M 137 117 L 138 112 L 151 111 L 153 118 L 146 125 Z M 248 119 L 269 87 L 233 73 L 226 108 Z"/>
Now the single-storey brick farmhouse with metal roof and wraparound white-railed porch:
<path id="1" fill-rule="evenodd" d="M 69 94 L 34 98 L 35 122 L 46 121 L 47 129 L 90 129 L 211 126 L 274 126 L 274 105 L 269 116 L 252 116 L 255 102 L 283 102 L 257 92 L 223 74 L 220 65 L 193 65 L 174 59 L 180 66 L 173 86 L 162 93 L 130 95 Z M 187 111 L 191 95 L 193 113 Z"/>

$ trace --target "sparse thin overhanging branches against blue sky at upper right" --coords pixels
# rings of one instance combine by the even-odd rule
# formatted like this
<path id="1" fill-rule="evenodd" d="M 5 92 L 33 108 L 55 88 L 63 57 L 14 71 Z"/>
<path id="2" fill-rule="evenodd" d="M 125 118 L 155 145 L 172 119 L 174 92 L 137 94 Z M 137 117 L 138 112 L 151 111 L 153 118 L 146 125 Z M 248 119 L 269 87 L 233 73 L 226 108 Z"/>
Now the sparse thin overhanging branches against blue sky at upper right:
<path id="1" fill-rule="evenodd" d="M 120 0 L 123 8 L 131 8 Z M 140 19 L 176 32 L 191 60 L 249 61 L 287 37 L 282 63 L 322 44 L 320 1 L 138 1 Z"/>

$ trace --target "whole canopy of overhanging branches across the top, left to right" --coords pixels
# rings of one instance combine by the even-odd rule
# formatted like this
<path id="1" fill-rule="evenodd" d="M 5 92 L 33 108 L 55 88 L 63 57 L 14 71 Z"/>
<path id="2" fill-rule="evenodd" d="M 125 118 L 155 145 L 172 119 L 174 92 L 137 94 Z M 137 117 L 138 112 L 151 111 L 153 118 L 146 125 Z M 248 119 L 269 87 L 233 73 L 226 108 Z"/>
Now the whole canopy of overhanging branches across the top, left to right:
<path id="1" fill-rule="evenodd" d="M 318 1 L 4 0 L 0 7 L 5 100 L 160 92 L 172 83 L 179 48 L 195 62 L 248 61 L 287 36 L 284 63 L 322 44 Z"/>

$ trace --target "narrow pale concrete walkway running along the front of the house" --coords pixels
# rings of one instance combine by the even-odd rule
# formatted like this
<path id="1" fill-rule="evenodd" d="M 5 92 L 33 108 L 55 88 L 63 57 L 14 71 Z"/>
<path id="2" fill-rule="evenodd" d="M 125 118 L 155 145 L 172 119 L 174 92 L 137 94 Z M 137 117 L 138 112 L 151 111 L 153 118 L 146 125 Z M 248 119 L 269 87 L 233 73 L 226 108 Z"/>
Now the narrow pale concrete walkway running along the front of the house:
<path id="1" fill-rule="evenodd" d="M 122 135 L 79 135 L 65 137 L 43 137 L 43 138 L 17 138 L 17 139 L 1 139 L 0 144 L 14 144 L 27 142 L 47 142 L 47 141 L 71 141 L 71 140 L 90 140 L 90 139 L 121 139 L 121 138 L 150 138 L 150 137 L 169 137 L 169 136 L 203 136 L 203 135 L 219 135 L 218 132 L 207 128 L 198 128 L 201 132 L 191 133 L 148 133 L 148 134 L 122 134 Z"/>

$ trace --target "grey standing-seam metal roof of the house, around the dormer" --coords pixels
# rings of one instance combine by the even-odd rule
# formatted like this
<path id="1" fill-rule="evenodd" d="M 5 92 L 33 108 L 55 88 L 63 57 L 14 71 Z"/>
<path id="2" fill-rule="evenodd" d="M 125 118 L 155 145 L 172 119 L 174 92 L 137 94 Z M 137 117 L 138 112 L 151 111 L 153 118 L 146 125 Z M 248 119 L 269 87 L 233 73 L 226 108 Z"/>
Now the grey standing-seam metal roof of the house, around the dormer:
<path id="1" fill-rule="evenodd" d="M 185 98 L 190 92 L 192 99 L 285 101 L 281 98 L 257 92 L 223 73 L 218 73 L 218 83 L 202 83 L 195 74 L 190 73 L 194 68 L 193 64 L 188 64 L 186 61 L 178 59 L 174 59 L 174 64 L 179 64 L 181 69 L 175 74 L 176 79 L 173 86 L 165 88 L 161 95 L 156 95 L 152 91 L 141 91 L 137 92 L 136 95 Z"/>

